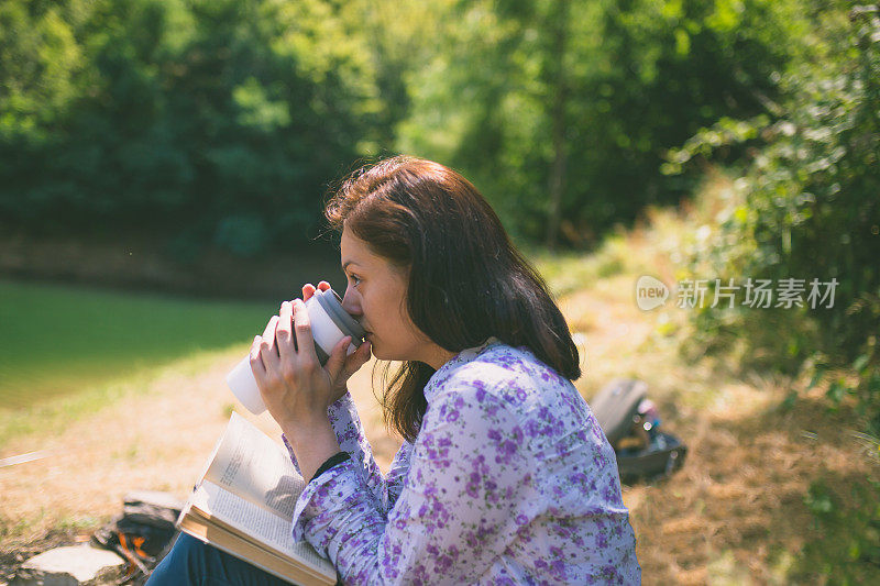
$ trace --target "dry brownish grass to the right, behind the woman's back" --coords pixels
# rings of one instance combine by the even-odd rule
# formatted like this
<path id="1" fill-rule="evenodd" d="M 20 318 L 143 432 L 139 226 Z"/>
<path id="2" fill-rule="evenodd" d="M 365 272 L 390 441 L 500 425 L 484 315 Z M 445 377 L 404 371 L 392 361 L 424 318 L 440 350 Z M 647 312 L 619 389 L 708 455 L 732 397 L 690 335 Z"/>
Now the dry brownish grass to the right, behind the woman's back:
<path id="1" fill-rule="evenodd" d="M 719 177 L 710 189 L 725 187 Z M 806 495 L 821 479 L 846 506 L 854 487 L 880 477 L 877 447 L 858 436 L 862 421 L 850 406 L 831 412 L 823 392 L 805 391 L 803 380 L 743 375 L 724 358 L 685 360 L 679 349 L 690 324 L 674 299 L 653 311 L 637 308 L 640 275 L 668 285 L 680 278 L 674 252 L 693 233 L 688 221 L 653 211 L 646 226 L 626 236 L 626 254 L 594 255 L 592 262 L 609 253 L 624 258 L 616 275 L 585 281 L 561 302 L 572 329 L 586 338 L 585 374 L 576 383 L 582 395 L 588 400 L 619 376 L 646 380 L 663 429 L 690 449 L 670 478 L 624 487 L 644 582 L 846 584 L 823 575 L 834 576 L 839 559 L 804 556 L 811 542 L 815 551 L 816 543 L 847 538 L 845 527 L 822 534 Z M 876 516 L 876 505 L 862 507 Z M 880 583 L 877 566 L 862 563 L 855 574 Z"/>

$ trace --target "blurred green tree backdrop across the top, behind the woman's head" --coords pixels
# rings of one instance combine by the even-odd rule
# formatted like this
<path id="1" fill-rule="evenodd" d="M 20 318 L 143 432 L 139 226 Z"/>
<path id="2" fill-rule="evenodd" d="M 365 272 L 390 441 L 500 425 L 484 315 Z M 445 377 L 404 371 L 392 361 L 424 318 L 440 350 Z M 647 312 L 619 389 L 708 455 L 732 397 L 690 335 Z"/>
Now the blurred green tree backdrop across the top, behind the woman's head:
<path id="1" fill-rule="evenodd" d="M 735 159 L 733 121 L 779 117 L 813 4 L 8 0 L 0 217 L 254 255 L 316 236 L 353 162 L 407 152 L 464 172 L 520 240 L 560 222 L 588 245 L 689 192 L 668 148 L 723 119 L 703 142 Z"/>

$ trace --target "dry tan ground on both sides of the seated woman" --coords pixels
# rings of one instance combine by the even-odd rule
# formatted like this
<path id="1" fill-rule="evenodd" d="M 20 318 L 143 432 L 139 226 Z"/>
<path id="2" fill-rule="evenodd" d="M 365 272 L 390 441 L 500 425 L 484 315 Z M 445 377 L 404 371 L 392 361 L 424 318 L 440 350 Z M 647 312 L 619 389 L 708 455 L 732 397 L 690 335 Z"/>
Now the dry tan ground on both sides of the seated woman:
<path id="1" fill-rule="evenodd" d="M 809 575 L 801 551 L 816 538 L 804 500 L 811 482 L 826 478 L 843 490 L 864 482 L 866 469 L 878 476 L 876 458 L 854 433 L 855 416 L 829 414 L 809 394 L 783 409 L 788 382 L 743 380 L 708 360 L 683 362 L 675 340 L 659 333 L 668 330 L 659 324 L 681 316 L 639 311 L 632 287 L 630 276 L 612 277 L 561 306 L 583 341 L 585 376 L 576 384 L 587 400 L 614 377 L 641 378 L 662 428 L 690 449 L 672 477 L 624 487 L 645 584 L 789 584 L 791 575 Z M 0 458 L 46 454 L 0 468 L 0 560 L 9 563 L 51 535 L 88 535 L 121 510 L 129 490 L 185 498 L 229 418 L 223 378 L 240 353 L 195 372 L 169 367 L 58 432 L 0 446 Z M 385 432 L 371 378 L 367 366 L 351 389 L 387 469 L 399 441 Z M 235 410 L 278 434 L 267 414 Z"/>

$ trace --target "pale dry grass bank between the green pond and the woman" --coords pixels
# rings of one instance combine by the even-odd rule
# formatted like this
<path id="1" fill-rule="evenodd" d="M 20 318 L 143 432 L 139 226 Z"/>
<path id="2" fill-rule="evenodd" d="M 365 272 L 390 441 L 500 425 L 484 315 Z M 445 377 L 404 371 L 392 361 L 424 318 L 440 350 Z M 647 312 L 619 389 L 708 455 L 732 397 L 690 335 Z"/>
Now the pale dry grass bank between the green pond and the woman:
<path id="1" fill-rule="evenodd" d="M 245 347 L 216 356 L 200 371 L 173 365 L 154 379 L 121 392 L 102 409 L 69 421 L 62 431 L 14 438 L 0 458 L 45 451 L 46 457 L 0 468 L 0 553 L 9 553 L 58 528 L 95 526 L 121 512 L 134 489 L 189 493 L 233 408 L 270 434 L 280 436 L 264 413 L 238 403 L 224 377 Z M 370 367 L 353 380 L 367 435 L 383 469 L 399 443 L 388 438 L 373 405 Z"/>

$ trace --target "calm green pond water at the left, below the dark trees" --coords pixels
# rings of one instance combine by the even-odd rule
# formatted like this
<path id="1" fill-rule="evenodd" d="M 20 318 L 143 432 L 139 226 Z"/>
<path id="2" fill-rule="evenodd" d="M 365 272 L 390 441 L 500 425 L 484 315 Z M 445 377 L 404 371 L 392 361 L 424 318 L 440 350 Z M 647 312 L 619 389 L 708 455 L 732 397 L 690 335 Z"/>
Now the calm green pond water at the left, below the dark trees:
<path id="1" fill-rule="evenodd" d="M 195 353 L 246 344 L 274 303 L 0 280 L 0 408 L 20 409 Z"/>

